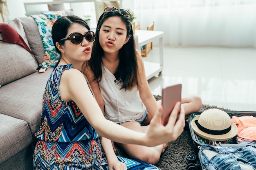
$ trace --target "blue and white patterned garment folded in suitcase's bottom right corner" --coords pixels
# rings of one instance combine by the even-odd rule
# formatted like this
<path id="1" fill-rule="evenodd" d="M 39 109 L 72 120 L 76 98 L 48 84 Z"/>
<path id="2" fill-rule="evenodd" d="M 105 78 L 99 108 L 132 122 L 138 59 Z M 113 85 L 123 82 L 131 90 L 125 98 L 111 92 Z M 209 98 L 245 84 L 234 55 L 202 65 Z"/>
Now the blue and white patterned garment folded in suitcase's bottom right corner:
<path id="1" fill-rule="evenodd" d="M 198 152 L 202 170 L 256 170 L 256 146 L 222 147 L 205 144 Z"/>

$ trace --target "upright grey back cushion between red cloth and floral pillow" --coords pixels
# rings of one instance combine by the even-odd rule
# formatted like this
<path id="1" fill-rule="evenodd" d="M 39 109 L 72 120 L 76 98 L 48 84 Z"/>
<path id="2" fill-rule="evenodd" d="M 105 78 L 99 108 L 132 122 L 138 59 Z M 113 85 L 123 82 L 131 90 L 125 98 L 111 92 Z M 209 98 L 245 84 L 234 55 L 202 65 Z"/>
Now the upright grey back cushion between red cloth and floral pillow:
<path id="1" fill-rule="evenodd" d="M 36 21 L 33 17 L 20 17 L 18 20 L 23 25 L 31 51 L 35 55 L 37 62 L 41 64 L 45 55 L 45 49 Z"/>

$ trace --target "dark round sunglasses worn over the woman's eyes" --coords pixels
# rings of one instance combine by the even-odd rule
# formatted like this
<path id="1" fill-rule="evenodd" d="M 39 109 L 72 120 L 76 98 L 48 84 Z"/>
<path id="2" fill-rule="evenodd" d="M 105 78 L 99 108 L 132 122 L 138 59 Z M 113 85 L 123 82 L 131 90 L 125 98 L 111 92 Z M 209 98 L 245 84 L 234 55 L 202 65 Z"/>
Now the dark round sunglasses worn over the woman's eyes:
<path id="1" fill-rule="evenodd" d="M 88 42 L 94 42 L 95 34 L 93 31 L 87 31 L 85 35 L 81 33 L 71 33 L 67 38 L 62 38 L 60 41 L 69 40 L 73 44 L 81 44 L 83 42 L 83 38 Z"/>

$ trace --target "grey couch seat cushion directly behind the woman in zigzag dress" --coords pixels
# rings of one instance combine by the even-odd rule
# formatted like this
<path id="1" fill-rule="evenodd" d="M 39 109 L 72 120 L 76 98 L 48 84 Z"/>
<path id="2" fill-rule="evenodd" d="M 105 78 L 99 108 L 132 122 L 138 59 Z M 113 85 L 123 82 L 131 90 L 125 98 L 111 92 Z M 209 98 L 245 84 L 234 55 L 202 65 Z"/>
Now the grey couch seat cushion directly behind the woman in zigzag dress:
<path id="1" fill-rule="evenodd" d="M 33 136 L 39 128 L 43 93 L 52 70 L 35 72 L 0 88 L 0 113 L 26 121 Z"/>

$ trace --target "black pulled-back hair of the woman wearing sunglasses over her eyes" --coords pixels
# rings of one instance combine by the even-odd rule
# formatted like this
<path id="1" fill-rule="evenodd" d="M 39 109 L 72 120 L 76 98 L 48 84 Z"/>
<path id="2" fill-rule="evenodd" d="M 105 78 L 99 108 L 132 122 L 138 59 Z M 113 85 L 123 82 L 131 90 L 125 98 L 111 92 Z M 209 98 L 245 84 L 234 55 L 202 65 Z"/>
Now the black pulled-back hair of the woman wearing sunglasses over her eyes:
<path id="1" fill-rule="evenodd" d="M 66 38 L 68 29 L 74 23 L 81 24 L 85 26 L 88 30 L 90 30 L 90 27 L 88 26 L 87 22 L 85 22 L 82 18 L 76 15 L 67 15 L 67 16 L 58 18 L 52 26 L 52 42 L 55 46 L 57 53 L 59 53 L 60 55 L 61 55 L 61 51 L 59 51 L 59 49 L 57 48 L 56 42 L 58 42 L 60 45 L 64 44 L 64 41 L 60 41 L 60 40 L 62 38 Z M 58 66 L 60 60 L 61 60 L 61 57 L 54 68 Z"/>

